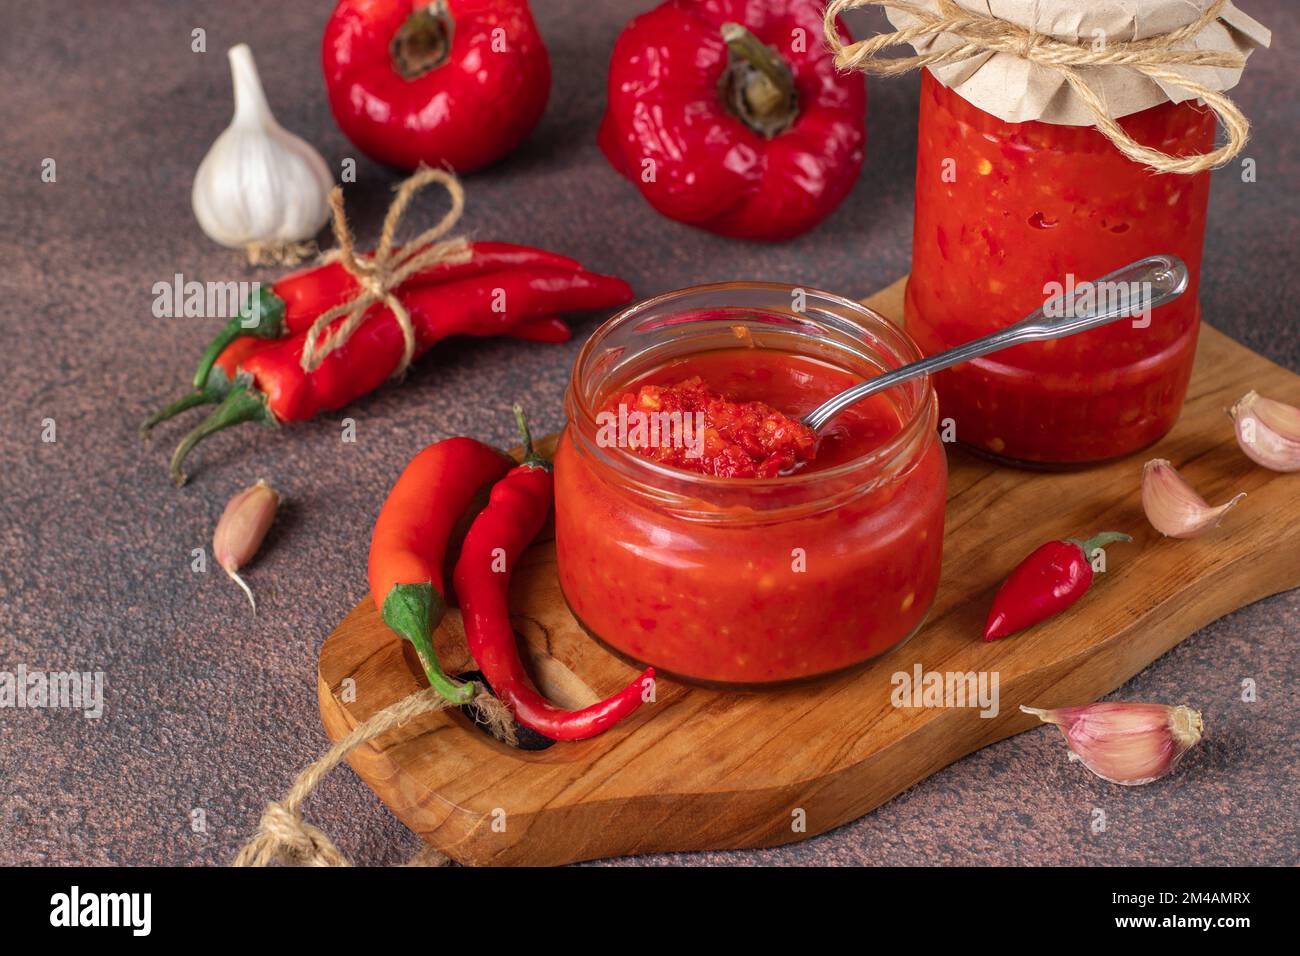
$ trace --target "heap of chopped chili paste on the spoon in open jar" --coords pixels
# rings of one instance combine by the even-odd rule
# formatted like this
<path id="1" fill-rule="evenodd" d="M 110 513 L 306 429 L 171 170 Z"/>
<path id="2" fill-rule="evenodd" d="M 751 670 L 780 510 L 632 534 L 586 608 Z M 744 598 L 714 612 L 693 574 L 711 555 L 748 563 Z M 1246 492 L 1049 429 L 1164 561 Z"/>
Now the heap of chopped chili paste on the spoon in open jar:
<path id="1" fill-rule="evenodd" d="M 699 376 L 641 385 L 610 405 L 623 407 L 627 446 L 660 464 L 714 477 L 776 477 L 816 457 L 816 433 L 764 402 L 732 402 Z M 641 416 L 634 416 L 641 412 Z"/>

